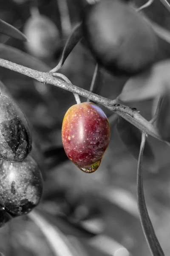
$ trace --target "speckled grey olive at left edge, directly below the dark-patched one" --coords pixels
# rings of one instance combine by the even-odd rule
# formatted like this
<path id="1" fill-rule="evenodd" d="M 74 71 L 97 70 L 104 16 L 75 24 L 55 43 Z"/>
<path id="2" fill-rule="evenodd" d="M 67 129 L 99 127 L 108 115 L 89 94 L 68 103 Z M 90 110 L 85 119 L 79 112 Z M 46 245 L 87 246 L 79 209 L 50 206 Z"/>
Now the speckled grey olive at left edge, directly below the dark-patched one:
<path id="1" fill-rule="evenodd" d="M 39 166 L 31 156 L 23 162 L 0 160 L 0 196 L 9 215 L 27 214 L 36 207 L 42 185 Z"/>

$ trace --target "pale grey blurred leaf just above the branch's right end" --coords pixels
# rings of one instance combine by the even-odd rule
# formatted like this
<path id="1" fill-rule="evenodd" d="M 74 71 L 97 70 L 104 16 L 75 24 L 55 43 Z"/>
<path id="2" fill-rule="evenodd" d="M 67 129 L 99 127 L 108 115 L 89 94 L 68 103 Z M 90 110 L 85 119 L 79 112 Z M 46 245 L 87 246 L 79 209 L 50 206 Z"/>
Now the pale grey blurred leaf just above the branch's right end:
<path id="1" fill-rule="evenodd" d="M 123 102 L 142 101 L 156 97 L 162 90 L 161 77 L 151 69 L 128 79 L 118 98 Z"/>

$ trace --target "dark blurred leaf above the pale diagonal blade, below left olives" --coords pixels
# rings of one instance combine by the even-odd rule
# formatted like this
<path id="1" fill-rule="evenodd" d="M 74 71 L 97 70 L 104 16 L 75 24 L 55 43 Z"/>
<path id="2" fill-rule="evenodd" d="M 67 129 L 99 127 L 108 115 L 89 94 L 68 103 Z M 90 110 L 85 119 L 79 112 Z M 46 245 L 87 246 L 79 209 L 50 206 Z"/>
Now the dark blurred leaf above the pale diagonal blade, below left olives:
<path id="1" fill-rule="evenodd" d="M 61 230 L 62 233 L 65 235 L 71 235 L 76 237 L 82 237 L 82 238 L 92 238 L 96 236 L 96 234 L 85 230 L 85 228 L 81 227 L 77 223 L 72 223 L 71 221 L 68 221 L 67 218 L 62 216 L 54 217 L 54 215 L 45 212 L 45 211 L 38 211 L 38 214 L 43 216 L 43 218 L 47 219 L 53 226 L 56 226 Z"/>

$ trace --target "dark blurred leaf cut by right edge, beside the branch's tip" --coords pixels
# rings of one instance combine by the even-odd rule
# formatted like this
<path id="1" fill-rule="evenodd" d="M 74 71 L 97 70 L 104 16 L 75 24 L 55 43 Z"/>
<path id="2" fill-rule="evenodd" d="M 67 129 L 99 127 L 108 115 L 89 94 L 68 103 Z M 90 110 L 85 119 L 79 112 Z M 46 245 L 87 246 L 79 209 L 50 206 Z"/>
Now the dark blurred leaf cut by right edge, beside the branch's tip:
<path id="1" fill-rule="evenodd" d="M 164 94 L 156 124 L 161 137 L 170 142 L 170 91 Z"/>

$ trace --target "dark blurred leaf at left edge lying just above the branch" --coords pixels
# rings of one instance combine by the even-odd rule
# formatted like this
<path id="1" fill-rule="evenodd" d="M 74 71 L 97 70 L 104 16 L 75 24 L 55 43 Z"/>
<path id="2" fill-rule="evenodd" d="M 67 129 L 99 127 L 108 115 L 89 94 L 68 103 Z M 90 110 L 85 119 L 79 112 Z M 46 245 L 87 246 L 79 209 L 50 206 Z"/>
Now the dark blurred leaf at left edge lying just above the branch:
<path id="1" fill-rule="evenodd" d="M 44 64 L 42 61 L 37 60 L 36 58 L 32 57 L 26 52 L 22 52 L 19 49 L 16 49 L 5 44 L 0 44 L 0 58 L 42 72 L 47 72 L 48 70 L 50 70 L 50 67 Z"/>

